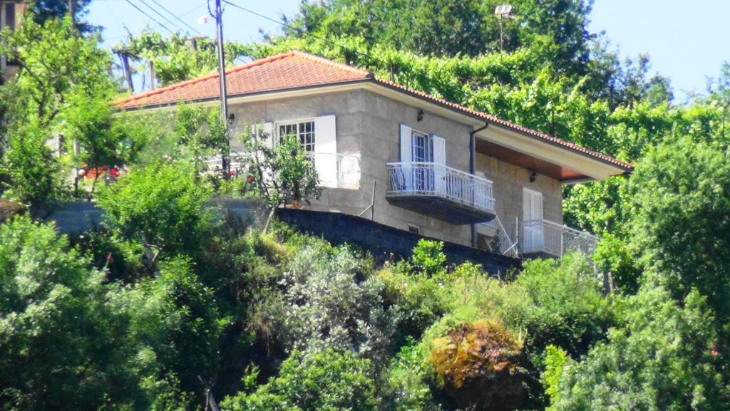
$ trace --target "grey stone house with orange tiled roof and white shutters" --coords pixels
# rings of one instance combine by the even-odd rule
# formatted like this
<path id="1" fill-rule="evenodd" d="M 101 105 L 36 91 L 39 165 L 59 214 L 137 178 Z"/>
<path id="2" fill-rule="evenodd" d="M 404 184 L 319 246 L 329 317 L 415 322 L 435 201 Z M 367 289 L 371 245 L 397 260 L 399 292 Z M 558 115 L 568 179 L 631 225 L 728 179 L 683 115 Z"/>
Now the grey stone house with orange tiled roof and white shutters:
<path id="1" fill-rule="evenodd" d="M 226 72 L 231 128 L 296 134 L 323 194 L 306 209 L 508 256 L 591 253 L 564 226 L 563 185 L 632 166 L 556 137 L 293 51 Z M 217 105 L 218 74 L 118 101 L 119 110 Z M 233 150 L 240 149 L 233 144 Z"/>

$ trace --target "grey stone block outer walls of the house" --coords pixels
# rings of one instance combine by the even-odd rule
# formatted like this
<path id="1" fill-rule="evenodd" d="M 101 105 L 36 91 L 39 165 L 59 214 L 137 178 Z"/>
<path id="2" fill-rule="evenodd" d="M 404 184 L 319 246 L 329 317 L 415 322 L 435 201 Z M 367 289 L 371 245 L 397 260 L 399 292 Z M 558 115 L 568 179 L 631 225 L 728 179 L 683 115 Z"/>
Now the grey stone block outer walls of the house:
<path id="1" fill-rule="evenodd" d="M 418 108 L 370 91 L 358 90 L 296 97 L 276 101 L 261 101 L 231 105 L 234 126 L 299 120 L 320 115 L 336 115 L 337 152 L 358 155 L 361 180 L 359 190 L 326 188 L 319 201 L 306 208 L 319 211 L 344 212 L 359 215 L 371 204 L 373 182 L 374 221 L 400 230 L 412 224 L 426 237 L 442 239 L 461 245 L 471 244 L 471 228 L 454 226 L 418 212 L 395 207 L 385 199 L 389 176 L 385 164 L 399 160 L 399 126 L 401 123 L 416 131 L 437 134 L 446 140 L 446 165 L 469 172 L 469 132 L 472 127 L 455 120 L 425 112 L 418 121 Z M 530 172 L 478 154 L 475 169 L 485 172 L 494 182 L 496 212 L 502 221 L 522 218 L 522 187 L 543 193 L 544 215 L 548 220 L 562 223 L 561 187 L 549 177 L 539 175 L 529 183 Z M 366 217 L 370 212 L 366 212 Z"/>

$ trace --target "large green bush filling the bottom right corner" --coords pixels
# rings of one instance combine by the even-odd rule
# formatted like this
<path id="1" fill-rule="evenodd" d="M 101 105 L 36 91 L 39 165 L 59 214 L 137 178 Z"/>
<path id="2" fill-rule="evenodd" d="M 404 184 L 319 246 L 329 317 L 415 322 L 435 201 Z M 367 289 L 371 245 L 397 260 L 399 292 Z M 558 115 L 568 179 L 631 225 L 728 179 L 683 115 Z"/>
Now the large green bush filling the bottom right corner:
<path id="1" fill-rule="evenodd" d="M 724 410 L 728 385 L 713 357 L 716 332 L 704 299 L 683 307 L 663 288 L 629 299 L 625 325 L 563 371 L 551 410 Z"/>

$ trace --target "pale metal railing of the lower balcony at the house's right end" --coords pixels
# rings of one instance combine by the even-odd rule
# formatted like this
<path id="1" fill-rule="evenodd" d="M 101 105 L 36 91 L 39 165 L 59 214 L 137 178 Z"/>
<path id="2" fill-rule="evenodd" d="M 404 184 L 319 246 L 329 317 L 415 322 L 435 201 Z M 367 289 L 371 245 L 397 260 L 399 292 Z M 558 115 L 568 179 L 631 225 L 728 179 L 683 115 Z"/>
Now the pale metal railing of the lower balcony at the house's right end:
<path id="1" fill-rule="evenodd" d="M 520 251 L 523 254 L 545 253 L 561 257 L 566 253 L 583 253 L 592 256 L 596 252 L 598 237 L 585 231 L 561 226 L 548 220 L 522 222 Z"/>

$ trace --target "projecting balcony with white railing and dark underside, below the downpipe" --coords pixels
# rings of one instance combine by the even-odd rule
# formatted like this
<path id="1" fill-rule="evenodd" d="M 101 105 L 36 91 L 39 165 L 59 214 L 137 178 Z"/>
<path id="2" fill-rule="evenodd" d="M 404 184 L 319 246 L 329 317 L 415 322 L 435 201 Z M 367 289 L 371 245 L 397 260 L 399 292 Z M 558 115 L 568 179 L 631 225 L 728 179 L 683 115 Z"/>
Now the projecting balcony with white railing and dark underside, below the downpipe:
<path id="1" fill-rule="evenodd" d="M 492 182 L 434 163 L 388 163 L 391 204 L 461 225 L 494 218 Z"/>

